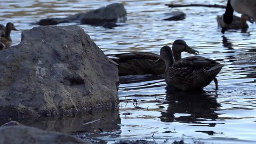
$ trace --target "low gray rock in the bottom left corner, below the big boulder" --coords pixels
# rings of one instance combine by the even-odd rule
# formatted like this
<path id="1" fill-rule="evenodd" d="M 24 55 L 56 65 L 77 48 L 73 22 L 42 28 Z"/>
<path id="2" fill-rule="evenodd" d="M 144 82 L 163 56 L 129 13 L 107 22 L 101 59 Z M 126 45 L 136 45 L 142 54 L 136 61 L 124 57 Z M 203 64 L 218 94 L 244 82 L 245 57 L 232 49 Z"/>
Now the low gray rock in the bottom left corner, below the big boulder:
<path id="1" fill-rule="evenodd" d="M 89 143 L 68 134 L 43 131 L 29 126 L 0 127 L 0 144 L 19 143 Z"/>

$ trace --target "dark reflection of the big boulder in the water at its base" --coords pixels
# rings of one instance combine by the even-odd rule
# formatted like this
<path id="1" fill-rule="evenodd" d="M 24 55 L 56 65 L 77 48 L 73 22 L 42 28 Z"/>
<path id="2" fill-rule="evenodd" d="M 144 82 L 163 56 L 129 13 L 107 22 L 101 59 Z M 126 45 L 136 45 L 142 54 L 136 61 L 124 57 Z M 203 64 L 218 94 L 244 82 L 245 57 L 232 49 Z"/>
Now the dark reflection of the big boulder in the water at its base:
<path id="1" fill-rule="evenodd" d="M 116 138 L 120 137 L 121 134 L 121 118 L 119 117 L 118 111 L 118 109 L 114 111 L 94 111 L 91 113 L 80 113 L 70 117 L 40 118 L 21 123 L 43 130 L 73 134 L 76 137 L 87 140 L 99 140 L 97 137 L 103 136 Z M 86 124 L 88 122 L 92 123 Z M 100 141 L 103 142 L 102 140 Z"/>

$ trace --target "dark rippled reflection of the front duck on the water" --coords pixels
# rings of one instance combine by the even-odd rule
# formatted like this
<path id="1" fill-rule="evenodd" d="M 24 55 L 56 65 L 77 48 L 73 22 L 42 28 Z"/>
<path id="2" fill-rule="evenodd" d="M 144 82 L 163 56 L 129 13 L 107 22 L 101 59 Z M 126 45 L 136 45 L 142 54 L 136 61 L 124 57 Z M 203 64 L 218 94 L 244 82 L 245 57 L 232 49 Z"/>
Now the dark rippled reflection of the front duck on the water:
<path id="1" fill-rule="evenodd" d="M 167 89 L 166 103 L 169 106 L 166 112 L 161 113 L 160 119 L 162 122 L 215 126 L 215 123 L 203 123 L 203 121 L 214 121 L 218 118 L 215 110 L 220 107 L 220 103 L 216 101 L 216 97 L 217 94 L 207 94 L 205 91 L 185 92 Z"/>

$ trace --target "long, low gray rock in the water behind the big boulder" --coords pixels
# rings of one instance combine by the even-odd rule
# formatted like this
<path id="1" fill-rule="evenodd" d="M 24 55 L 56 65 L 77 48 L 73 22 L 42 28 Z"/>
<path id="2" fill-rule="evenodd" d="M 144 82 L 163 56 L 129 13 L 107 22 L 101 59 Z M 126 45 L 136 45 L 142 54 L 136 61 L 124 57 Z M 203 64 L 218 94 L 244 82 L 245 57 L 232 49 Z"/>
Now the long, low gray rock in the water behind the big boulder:
<path id="1" fill-rule="evenodd" d="M 57 25 L 64 22 L 81 22 L 89 25 L 103 25 L 105 22 L 124 22 L 126 19 L 126 10 L 120 3 L 114 3 L 101 7 L 97 10 L 85 13 L 77 13 L 66 18 L 47 18 L 37 22 L 38 25 Z"/>

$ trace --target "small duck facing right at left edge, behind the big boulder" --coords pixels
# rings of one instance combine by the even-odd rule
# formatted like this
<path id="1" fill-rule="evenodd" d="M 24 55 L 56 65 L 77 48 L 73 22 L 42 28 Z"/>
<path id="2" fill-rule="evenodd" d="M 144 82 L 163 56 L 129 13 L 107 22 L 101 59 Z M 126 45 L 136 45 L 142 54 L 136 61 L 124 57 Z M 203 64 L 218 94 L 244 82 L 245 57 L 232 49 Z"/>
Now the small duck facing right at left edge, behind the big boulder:
<path id="1" fill-rule="evenodd" d="M 10 37 L 11 31 L 17 30 L 12 22 L 8 22 L 5 27 L 5 36 L 0 37 L 0 50 L 6 49 L 12 45 L 12 39 Z"/>

